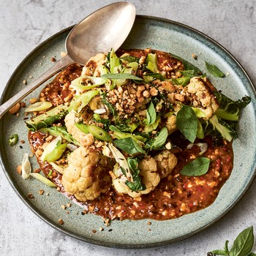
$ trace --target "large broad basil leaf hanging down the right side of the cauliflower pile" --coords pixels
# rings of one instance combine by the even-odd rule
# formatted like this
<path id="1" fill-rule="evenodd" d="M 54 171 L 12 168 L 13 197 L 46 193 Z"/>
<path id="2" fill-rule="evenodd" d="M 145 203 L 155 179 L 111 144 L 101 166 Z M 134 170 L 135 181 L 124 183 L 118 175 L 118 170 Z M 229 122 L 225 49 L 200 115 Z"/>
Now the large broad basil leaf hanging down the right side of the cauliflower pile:
<path id="1" fill-rule="evenodd" d="M 197 137 L 197 116 L 191 107 L 183 105 L 177 113 L 176 125 L 185 138 L 194 143 Z"/>

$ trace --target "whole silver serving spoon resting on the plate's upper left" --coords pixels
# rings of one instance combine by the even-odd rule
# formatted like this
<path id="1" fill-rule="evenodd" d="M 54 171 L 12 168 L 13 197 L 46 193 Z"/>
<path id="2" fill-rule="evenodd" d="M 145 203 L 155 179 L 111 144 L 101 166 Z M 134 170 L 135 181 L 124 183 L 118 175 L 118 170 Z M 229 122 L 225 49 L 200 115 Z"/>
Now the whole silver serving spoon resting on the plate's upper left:
<path id="1" fill-rule="evenodd" d="M 117 50 L 127 38 L 135 21 L 135 7 L 128 2 L 117 2 L 93 12 L 80 21 L 68 34 L 65 45 L 67 55 L 56 61 L 42 76 L 0 106 L 0 119 L 7 110 L 34 91 L 61 69 L 77 62 L 86 62 L 97 53 Z"/>

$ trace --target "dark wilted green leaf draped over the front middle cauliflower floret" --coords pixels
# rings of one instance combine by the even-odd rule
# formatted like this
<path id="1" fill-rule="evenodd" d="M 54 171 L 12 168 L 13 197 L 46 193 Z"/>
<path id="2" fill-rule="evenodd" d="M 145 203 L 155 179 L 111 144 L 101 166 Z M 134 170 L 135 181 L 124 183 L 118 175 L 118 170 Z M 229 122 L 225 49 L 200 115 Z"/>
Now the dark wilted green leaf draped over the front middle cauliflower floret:
<path id="1" fill-rule="evenodd" d="M 131 173 L 132 173 L 133 182 L 125 181 L 125 184 L 127 185 L 127 187 L 129 187 L 129 189 L 132 190 L 132 192 L 145 190 L 146 186 L 141 182 L 141 178 L 140 178 L 140 169 L 138 168 L 138 165 L 139 165 L 138 159 L 128 157 L 127 162 L 129 165 L 129 169 L 131 170 Z"/>

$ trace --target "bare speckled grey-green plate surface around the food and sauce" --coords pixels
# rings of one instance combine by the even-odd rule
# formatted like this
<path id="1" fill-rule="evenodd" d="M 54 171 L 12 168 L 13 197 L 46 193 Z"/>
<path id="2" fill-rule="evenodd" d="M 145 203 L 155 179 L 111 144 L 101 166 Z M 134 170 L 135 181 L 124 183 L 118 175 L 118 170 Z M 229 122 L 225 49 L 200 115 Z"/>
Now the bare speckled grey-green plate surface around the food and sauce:
<path id="1" fill-rule="evenodd" d="M 1 102 L 20 91 L 24 86 L 23 80 L 26 79 L 29 83 L 45 72 L 52 65 L 51 57 L 60 58 L 61 51 L 65 51 L 64 42 L 70 29 L 64 29 L 47 39 L 21 62 L 10 78 Z M 125 249 L 164 246 L 190 238 L 214 225 L 238 203 L 255 178 L 256 137 L 252 136 L 252 131 L 256 130 L 255 89 L 238 61 L 221 45 L 205 34 L 171 20 L 137 16 L 123 48 L 153 48 L 171 52 L 192 62 L 203 72 L 206 72 L 204 61 L 208 61 L 230 74 L 225 78 L 209 76 L 214 85 L 227 97 L 238 99 L 245 94 L 252 97 L 252 103 L 244 109 L 241 116 L 239 138 L 233 143 L 233 172 L 211 206 L 178 219 L 151 221 L 151 231 L 148 231 L 148 219 L 113 221 L 109 227 L 104 227 L 101 217 L 92 214 L 82 215 L 82 208 L 75 204 L 67 209 L 69 214 L 66 214 L 61 205 L 69 203 L 67 197 L 35 179 L 24 181 L 15 171 L 17 165 L 22 162 L 23 154 L 30 152 L 23 112 L 20 117 L 7 114 L 0 121 L 1 165 L 23 202 L 49 225 L 73 238 L 90 244 Z M 197 60 L 192 59 L 192 53 L 197 55 Z M 29 98 L 37 97 L 41 89 L 42 86 Z M 20 140 L 26 140 L 23 148 L 8 146 L 8 138 L 12 133 L 18 133 Z M 31 159 L 31 163 L 33 168 L 38 167 L 35 157 Z M 39 189 L 44 189 L 45 193 L 39 195 Z M 34 199 L 27 197 L 29 192 L 34 195 Z M 59 225 L 59 219 L 64 220 L 64 225 Z M 99 230 L 99 227 L 104 227 L 104 231 L 92 233 L 92 230 Z"/>

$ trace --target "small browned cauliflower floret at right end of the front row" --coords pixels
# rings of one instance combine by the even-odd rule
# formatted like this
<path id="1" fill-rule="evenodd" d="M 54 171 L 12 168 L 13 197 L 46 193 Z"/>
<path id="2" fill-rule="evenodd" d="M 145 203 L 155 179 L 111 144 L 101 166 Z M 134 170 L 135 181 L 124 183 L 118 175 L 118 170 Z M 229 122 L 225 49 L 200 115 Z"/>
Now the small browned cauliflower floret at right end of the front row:
<path id="1" fill-rule="evenodd" d="M 165 178 L 172 172 L 177 165 L 177 157 L 169 150 L 163 150 L 157 154 L 154 159 L 157 162 L 157 171 L 160 178 Z"/>

